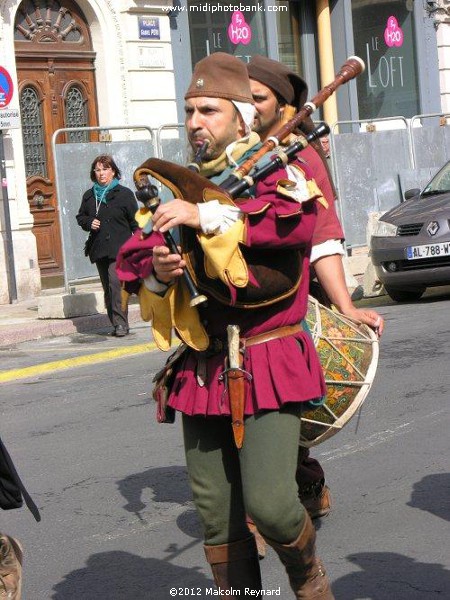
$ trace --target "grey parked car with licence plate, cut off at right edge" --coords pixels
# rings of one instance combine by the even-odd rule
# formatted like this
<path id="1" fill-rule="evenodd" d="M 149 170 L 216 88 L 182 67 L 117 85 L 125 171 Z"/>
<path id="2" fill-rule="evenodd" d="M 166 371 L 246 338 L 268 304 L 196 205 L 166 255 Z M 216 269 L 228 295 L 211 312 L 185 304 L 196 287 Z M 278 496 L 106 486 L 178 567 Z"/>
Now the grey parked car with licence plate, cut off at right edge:
<path id="1" fill-rule="evenodd" d="M 450 161 L 422 192 L 408 190 L 404 197 L 381 216 L 370 241 L 377 276 L 397 302 L 450 284 Z"/>

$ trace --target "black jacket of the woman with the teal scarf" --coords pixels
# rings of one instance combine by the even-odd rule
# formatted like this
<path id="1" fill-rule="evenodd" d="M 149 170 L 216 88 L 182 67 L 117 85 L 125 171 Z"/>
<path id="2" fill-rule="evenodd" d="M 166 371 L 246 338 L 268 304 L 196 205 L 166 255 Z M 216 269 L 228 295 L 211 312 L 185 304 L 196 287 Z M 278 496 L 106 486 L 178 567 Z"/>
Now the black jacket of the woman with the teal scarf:
<path id="1" fill-rule="evenodd" d="M 95 196 L 92 188 L 83 194 L 81 206 L 77 214 L 78 225 L 90 232 L 92 244 L 89 258 L 92 263 L 101 258 L 115 260 L 120 246 L 138 228 L 134 218 L 138 204 L 133 192 L 123 186 L 116 185 L 106 194 L 106 204 L 102 202 L 95 216 Z M 100 221 L 100 229 L 91 230 L 92 221 Z"/>

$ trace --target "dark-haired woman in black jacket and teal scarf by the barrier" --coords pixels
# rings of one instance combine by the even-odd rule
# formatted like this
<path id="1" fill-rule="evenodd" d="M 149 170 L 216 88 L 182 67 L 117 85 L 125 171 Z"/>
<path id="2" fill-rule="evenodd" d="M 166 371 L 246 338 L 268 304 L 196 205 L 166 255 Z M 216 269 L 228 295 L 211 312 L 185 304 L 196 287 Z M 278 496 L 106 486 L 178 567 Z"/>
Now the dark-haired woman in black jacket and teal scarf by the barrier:
<path id="1" fill-rule="evenodd" d="M 121 285 L 116 274 L 119 248 L 138 228 L 134 218 L 138 205 L 134 193 L 120 185 L 121 173 L 112 156 L 97 156 L 91 165 L 94 185 L 84 194 L 77 222 L 89 231 L 87 255 L 97 266 L 105 293 L 105 306 L 114 334 L 128 334 L 128 313 L 121 303 Z"/>

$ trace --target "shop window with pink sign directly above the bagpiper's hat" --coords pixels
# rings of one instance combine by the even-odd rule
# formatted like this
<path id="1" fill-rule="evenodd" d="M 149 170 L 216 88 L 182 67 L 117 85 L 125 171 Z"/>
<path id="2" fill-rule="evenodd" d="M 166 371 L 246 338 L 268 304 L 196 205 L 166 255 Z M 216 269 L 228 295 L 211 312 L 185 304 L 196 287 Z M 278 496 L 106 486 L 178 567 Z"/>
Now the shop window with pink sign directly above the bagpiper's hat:
<path id="1" fill-rule="evenodd" d="M 246 62 L 253 54 L 267 56 L 261 0 L 224 2 L 188 0 L 192 66 L 213 52 L 227 52 Z"/>

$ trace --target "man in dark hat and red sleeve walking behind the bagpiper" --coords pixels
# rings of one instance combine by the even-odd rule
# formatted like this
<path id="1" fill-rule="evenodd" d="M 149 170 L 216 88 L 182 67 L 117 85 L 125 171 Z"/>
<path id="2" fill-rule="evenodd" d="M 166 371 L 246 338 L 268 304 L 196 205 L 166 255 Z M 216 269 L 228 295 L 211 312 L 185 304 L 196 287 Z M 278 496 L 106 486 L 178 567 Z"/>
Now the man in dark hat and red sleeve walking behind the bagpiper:
<path id="1" fill-rule="evenodd" d="M 247 65 L 250 85 L 255 101 L 256 116 L 254 130 L 262 141 L 273 135 L 283 121 L 291 118 L 287 115 L 292 106 L 294 112 L 300 110 L 307 100 L 307 85 L 298 75 L 283 64 L 254 55 Z M 314 128 L 308 117 L 301 124 L 303 133 L 309 133 Z M 330 180 L 328 165 L 320 142 L 307 146 L 298 155 L 300 164 L 306 164 L 311 169 L 323 197 L 327 202 L 318 203 L 318 216 L 313 236 L 311 265 L 320 286 L 325 292 L 329 303 L 345 316 L 365 323 L 383 332 L 383 318 L 374 310 L 355 307 L 348 293 L 342 263 L 344 237 L 341 224 L 335 209 L 335 193 Z M 311 290 L 312 293 L 313 289 Z M 323 296 L 319 297 L 323 302 Z M 300 447 L 297 469 L 299 495 L 312 518 L 322 517 L 331 509 L 331 497 L 325 485 L 325 475 L 319 462 L 309 457 L 309 450 Z M 251 526 L 251 524 L 250 524 Z M 253 529 L 251 527 L 251 529 Z M 260 546 L 260 553 L 264 552 Z"/>

